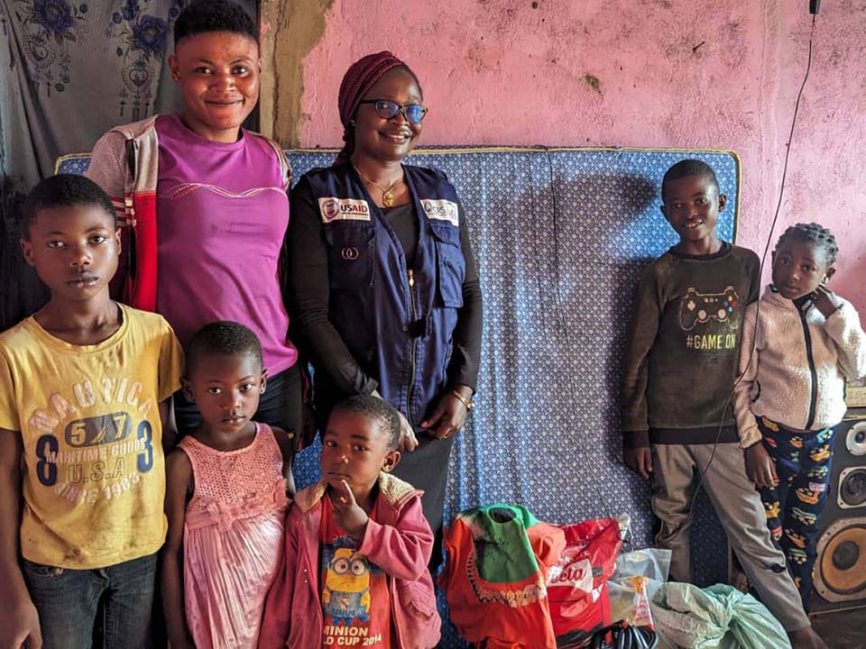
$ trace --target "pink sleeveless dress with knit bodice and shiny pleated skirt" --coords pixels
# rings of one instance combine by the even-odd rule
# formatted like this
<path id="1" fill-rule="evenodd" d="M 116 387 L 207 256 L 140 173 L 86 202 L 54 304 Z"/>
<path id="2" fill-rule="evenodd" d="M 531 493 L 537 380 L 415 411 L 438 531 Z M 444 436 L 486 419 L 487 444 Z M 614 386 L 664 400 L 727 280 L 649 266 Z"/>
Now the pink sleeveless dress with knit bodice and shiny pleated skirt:
<path id="1" fill-rule="evenodd" d="M 271 428 L 253 443 L 217 451 L 184 437 L 195 492 L 183 530 L 189 633 L 198 649 L 255 647 L 264 597 L 282 550 L 288 499 Z"/>

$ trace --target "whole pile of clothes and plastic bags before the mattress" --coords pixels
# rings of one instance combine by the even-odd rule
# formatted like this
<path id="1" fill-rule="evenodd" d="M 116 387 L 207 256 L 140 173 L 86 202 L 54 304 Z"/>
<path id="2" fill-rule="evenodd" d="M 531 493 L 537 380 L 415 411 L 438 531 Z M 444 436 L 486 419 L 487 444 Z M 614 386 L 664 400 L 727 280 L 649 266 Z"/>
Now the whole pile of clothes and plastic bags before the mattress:
<path id="1" fill-rule="evenodd" d="M 452 623 L 486 649 L 790 646 L 751 595 L 668 583 L 667 550 L 621 555 L 628 526 L 628 516 L 557 526 L 502 503 L 461 512 L 440 577 Z"/>

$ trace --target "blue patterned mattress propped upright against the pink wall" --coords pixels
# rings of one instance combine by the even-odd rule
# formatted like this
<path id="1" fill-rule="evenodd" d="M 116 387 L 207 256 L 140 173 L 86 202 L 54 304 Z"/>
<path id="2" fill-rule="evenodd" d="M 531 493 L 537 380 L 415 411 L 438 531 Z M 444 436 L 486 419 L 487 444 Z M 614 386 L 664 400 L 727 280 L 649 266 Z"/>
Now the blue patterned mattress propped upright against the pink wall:
<path id="1" fill-rule="evenodd" d="M 333 151 L 289 151 L 295 178 Z M 618 390 L 634 288 L 647 263 L 677 242 L 659 212 L 665 170 L 686 157 L 716 171 L 734 209 L 739 162 L 727 152 L 429 149 L 410 163 L 438 167 L 465 206 L 484 292 L 476 407 L 458 434 L 446 520 L 492 502 L 551 523 L 631 516 L 636 547 L 651 544 L 648 485 L 621 461 Z M 87 160 L 62 170 L 83 172 Z M 296 483 L 318 479 L 318 444 L 301 452 Z M 697 499 L 696 580 L 726 577 L 722 527 Z M 444 610 L 447 619 L 447 611 Z M 462 647 L 453 627 L 445 647 Z"/>

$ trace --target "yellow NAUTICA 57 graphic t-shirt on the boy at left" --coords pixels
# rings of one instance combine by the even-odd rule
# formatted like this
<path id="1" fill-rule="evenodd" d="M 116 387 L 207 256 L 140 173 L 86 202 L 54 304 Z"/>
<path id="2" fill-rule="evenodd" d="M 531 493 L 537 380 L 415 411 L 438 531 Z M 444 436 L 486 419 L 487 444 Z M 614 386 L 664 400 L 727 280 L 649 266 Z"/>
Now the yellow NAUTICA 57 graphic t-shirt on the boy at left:
<path id="1" fill-rule="evenodd" d="M 165 540 L 159 404 L 180 387 L 183 355 L 161 315 L 121 305 L 120 328 L 74 345 L 32 317 L 0 334 L 0 428 L 23 438 L 21 552 L 93 569 Z"/>

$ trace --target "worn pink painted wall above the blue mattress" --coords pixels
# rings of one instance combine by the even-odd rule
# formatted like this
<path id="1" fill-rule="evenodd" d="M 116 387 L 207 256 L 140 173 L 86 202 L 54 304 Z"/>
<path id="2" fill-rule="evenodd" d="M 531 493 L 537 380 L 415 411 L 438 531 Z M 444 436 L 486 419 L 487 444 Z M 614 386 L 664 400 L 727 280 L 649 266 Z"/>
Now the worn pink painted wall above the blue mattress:
<path id="1" fill-rule="evenodd" d="M 823 5 L 774 241 L 830 227 L 832 286 L 866 315 L 866 0 Z M 806 0 L 334 0 L 304 59 L 300 143 L 340 144 L 345 69 L 388 49 L 424 87 L 427 144 L 737 151 L 740 242 L 760 252 L 810 26 Z"/>

